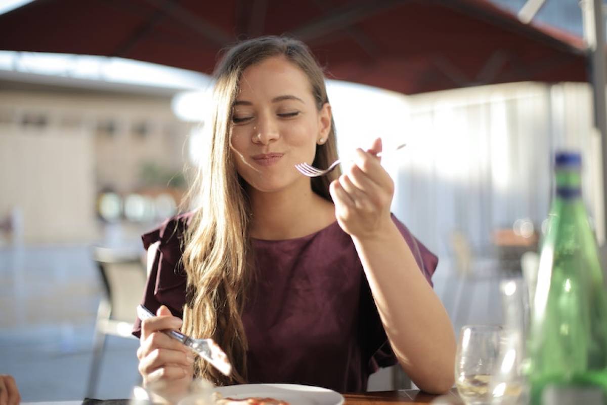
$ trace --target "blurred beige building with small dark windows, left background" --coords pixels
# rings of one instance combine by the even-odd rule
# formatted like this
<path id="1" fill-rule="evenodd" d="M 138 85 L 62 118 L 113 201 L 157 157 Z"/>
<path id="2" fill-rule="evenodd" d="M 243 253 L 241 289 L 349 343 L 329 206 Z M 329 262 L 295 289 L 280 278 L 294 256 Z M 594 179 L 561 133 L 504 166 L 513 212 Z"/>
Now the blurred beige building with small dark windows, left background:
<path id="1" fill-rule="evenodd" d="M 104 193 L 149 194 L 179 177 L 188 124 L 170 102 L 44 86 L 0 90 L 0 212 L 16 217 L 16 237 L 93 242 Z"/>

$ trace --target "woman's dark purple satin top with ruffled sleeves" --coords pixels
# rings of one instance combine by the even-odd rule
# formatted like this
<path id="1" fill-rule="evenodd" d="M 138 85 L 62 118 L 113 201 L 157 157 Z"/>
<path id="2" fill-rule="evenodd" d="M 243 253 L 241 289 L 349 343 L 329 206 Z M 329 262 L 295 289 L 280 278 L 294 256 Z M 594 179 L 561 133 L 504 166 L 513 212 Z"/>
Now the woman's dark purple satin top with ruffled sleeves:
<path id="1" fill-rule="evenodd" d="M 160 240 L 143 296 L 151 311 L 164 304 L 183 316 L 186 276 L 179 259 L 191 217 L 174 217 L 142 237 L 146 249 Z M 432 284 L 437 257 L 392 219 Z M 308 236 L 251 244 L 257 276 L 242 315 L 249 383 L 362 392 L 378 367 L 396 364 L 354 243 L 337 222 Z M 137 319 L 135 336 L 140 324 Z"/>

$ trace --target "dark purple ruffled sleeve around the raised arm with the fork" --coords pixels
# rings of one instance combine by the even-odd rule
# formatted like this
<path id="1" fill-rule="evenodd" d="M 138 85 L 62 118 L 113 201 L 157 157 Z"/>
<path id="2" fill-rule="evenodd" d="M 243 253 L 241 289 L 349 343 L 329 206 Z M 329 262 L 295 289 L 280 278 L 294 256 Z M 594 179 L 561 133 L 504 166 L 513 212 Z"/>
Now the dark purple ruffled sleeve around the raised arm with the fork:
<path id="1" fill-rule="evenodd" d="M 430 252 L 423 243 L 419 242 L 409 229 L 399 221 L 394 215 L 392 220 L 396 227 L 401 232 L 407 245 L 415 256 L 419 270 L 424 274 L 427 281 L 432 285 L 432 274 L 438 265 L 438 257 Z M 407 310 L 403 308 L 403 310 Z M 390 367 L 398 363 L 396 355 L 392 350 L 390 341 L 385 334 L 384 325 L 379 318 L 373 295 L 367 283 L 367 277 L 364 277 L 364 286 L 361 291 L 361 328 L 365 330 L 363 333 L 366 358 L 368 362 L 368 373 L 375 373 L 380 367 Z"/>

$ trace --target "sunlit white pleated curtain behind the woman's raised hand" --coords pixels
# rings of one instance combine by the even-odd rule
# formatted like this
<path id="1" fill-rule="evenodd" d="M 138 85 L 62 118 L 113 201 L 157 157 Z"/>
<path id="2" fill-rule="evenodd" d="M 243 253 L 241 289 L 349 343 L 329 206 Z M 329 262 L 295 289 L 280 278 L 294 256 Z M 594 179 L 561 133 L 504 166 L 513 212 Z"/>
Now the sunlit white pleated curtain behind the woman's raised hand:
<path id="1" fill-rule="evenodd" d="M 449 256 L 459 231 L 480 255 L 491 234 L 529 218 L 539 229 L 552 195 L 558 149 L 582 152 L 589 214 L 601 194 L 600 144 L 586 84 L 512 83 L 407 97 L 408 142 L 387 163 L 396 182 L 393 211 L 428 247 Z"/>

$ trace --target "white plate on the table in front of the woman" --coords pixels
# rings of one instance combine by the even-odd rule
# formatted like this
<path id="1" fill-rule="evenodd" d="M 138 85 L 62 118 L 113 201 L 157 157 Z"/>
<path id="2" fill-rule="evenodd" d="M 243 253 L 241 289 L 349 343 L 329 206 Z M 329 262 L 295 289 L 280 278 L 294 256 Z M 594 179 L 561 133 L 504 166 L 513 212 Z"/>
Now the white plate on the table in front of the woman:
<path id="1" fill-rule="evenodd" d="M 333 390 L 297 384 L 242 384 L 240 386 L 217 387 L 223 398 L 237 400 L 255 396 L 274 398 L 290 405 L 342 405 L 344 396 Z"/>

